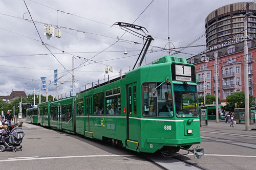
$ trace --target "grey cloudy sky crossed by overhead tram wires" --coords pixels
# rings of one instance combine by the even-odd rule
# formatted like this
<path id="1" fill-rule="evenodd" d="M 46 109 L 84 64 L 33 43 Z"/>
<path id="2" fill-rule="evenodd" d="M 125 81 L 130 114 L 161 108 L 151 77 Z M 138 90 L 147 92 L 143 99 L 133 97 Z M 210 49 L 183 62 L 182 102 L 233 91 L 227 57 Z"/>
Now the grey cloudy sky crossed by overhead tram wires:
<path id="1" fill-rule="evenodd" d="M 56 96 L 54 69 L 58 69 L 58 81 L 63 83 L 59 93 L 69 92 L 72 76 L 67 70 L 72 70 L 73 56 L 76 88 L 84 89 L 88 83 L 91 87 L 92 82 L 98 84 L 98 79 L 104 82 L 105 67 L 112 66 L 109 76 L 115 78 L 120 69 L 124 73 L 134 66 L 144 43 L 135 35 L 124 34 L 118 26 L 111 27 L 115 22 L 135 21 L 154 38 L 148 49 L 151 53 L 143 61 L 145 65 L 168 55 L 162 50 L 168 48 L 168 34 L 172 48 L 180 50 L 204 35 L 204 20 L 211 11 L 237 2 L 241 1 L 169 0 L 168 10 L 167 0 L 25 0 L 27 9 L 23 0 L 0 0 L 0 95 L 8 95 L 12 90 L 32 94 L 41 83 L 40 77 L 47 77 L 49 94 Z M 45 26 L 58 26 L 62 37 L 47 39 Z M 205 45 L 205 36 L 192 45 Z M 125 48 L 127 55 L 123 54 Z M 189 54 L 201 53 L 204 48 L 189 47 L 176 56 L 190 57 Z M 41 93 L 45 95 L 45 91 Z"/>

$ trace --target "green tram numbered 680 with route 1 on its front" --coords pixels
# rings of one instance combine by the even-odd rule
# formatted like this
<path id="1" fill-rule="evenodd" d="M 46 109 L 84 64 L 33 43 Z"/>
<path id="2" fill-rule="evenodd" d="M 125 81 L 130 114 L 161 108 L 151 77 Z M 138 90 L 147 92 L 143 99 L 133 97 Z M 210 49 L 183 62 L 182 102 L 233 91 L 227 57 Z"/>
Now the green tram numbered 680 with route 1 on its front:
<path id="1" fill-rule="evenodd" d="M 76 97 L 48 103 L 49 125 L 136 152 L 183 149 L 202 155 L 203 149 L 189 150 L 201 142 L 197 101 L 195 66 L 164 56 Z"/>

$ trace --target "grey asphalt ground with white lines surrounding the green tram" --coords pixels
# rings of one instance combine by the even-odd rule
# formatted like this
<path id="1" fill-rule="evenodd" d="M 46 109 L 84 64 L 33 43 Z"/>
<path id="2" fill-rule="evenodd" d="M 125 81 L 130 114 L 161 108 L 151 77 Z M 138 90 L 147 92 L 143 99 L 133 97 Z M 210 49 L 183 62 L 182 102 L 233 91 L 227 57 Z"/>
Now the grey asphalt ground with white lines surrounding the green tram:
<path id="1" fill-rule="evenodd" d="M 255 128 L 255 125 L 251 125 Z M 134 152 L 113 147 L 99 140 L 72 135 L 40 126 L 24 124 L 23 151 L 0 153 L 0 167 L 11 169 L 161 169 Z M 245 131 L 245 125 L 229 127 L 225 122 L 209 122 L 201 127 L 201 147 L 205 155 L 145 154 L 168 169 L 256 169 L 256 131 Z M 183 155 L 184 154 L 184 155 Z"/>

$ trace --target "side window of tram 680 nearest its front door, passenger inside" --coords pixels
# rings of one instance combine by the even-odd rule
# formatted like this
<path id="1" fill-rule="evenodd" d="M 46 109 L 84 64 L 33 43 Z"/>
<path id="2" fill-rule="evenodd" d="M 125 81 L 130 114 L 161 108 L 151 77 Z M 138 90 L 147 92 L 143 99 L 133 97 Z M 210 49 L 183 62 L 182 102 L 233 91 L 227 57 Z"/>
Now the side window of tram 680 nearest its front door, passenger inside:
<path id="1" fill-rule="evenodd" d="M 120 87 L 106 91 L 105 107 L 106 114 L 121 114 Z"/>

